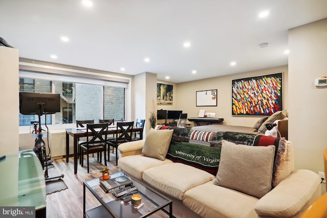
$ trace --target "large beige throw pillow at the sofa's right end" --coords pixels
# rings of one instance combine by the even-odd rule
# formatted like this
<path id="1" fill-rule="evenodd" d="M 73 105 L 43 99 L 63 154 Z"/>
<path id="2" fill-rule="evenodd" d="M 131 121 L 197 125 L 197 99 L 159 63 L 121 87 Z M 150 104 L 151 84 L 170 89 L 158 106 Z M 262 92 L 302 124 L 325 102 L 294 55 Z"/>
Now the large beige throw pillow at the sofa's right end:
<path id="1" fill-rule="evenodd" d="M 271 189 L 274 146 L 245 146 L 222 140 L 215 184 L 261 198 Z"/>

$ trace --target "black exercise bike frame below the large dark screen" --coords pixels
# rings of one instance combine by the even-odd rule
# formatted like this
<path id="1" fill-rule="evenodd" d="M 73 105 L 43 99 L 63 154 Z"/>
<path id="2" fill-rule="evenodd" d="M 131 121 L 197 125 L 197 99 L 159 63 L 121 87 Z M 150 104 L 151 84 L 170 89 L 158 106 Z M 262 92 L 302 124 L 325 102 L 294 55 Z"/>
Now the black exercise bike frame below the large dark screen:
<path id="1" fill-rule="evenodd" d="M 33 126 L 34 126 L 33 127 L 34 128 L 33 132 L 35 132 L 35 134 L 37 135 L 37 137 L 35 139 L 35 144 L 34 144 L 33 151 L 35 152 L 36 156 L 40 160 L 43 170 L 44 170 L 44 166 L 45 166 L 44 178 L 45 178 L 45 182 L 47 182 L 49 180 L 63 178 L 64 175 L 61 174 L 61 175 L 58 175 L 58 176 L 49 177 L 49 174 L 48 174 L 48 155 L 46 155 L 45 142 L 42 139 L 43 134 L 42 134 L 42 127 L 41 127 L 41 116 L 43 114 L 45 114 L 45 117 L 46 117 L 46 113 L 44 113 L 44 111 L 43 111 L 44 103 L 38 103 L 38 105 L 39 105 L 39 111 L 37 113 L 38 122 L 37 121 L 31 122 L 31 124 L 33 123 Z M 46 120 L 46 118 L 45 118 L 45 120 Z M 38 128 L 37 128 L 37 125 L 38 125 Z M 45 121 L 45 126 L 46 126 L 46 121 Z M 43 130 L 43 131 L 45 131 L 45 130 Z"/>

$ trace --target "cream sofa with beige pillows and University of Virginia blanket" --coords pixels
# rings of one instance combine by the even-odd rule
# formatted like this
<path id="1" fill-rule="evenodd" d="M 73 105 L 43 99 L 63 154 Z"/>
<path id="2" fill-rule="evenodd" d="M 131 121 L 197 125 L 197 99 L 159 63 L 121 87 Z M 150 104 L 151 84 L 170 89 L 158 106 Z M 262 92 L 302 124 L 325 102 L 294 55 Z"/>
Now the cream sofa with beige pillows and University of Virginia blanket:
<path id="1" fill-rule="evenodd" d="M 316 173 L 294 171 L 290 141 L 194 131 L 151 129 L 146 139 L 118 148 L 122 171 L 172 199 L 175 217 L 300 217 L 321 195 Z M 264 144 L 270 142 L 275 146 Z M 259 158 L 263 150 L 267 156 Z M 204 164 L 194 161 L 201 158 Z"/>

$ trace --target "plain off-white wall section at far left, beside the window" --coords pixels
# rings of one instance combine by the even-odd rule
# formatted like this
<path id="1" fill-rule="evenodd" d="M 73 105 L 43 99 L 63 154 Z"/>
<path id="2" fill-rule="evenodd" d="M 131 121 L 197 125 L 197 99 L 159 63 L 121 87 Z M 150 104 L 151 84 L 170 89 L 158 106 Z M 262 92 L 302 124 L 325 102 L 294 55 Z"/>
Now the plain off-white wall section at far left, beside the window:
<path id="1" fill-rule="evenodd" d="M 0 46 L 0 154 L 18 151 L 18 50 Z"/>

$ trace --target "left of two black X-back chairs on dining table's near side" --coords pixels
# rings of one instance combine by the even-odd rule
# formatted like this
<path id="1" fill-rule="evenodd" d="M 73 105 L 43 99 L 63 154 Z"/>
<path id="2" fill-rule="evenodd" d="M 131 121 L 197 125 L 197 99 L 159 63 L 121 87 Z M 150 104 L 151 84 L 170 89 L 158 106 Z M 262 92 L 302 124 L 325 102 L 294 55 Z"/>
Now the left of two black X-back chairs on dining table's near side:
<path id="1" fill-rule="evenodd" d="M 81 165 L 83 167 L 84 154 L 87 155 L 87 173 L 89 173 L 89 161 L 88 154 L 100 153 L 100 163 L 102 162 L 102 152 L 104 152 L 104 165 L 107 165 L 106 159 L 106 147 L 107 147 L 107 134 L 104 132 L 108 131 L 108 123 L 103 124 L 87 124 L 87 134 L 91 133 L 90 136 L 86 137 L 86 144 L 82 144 L 81 149 Z M 104 137 L 103 137 L 104 136 Z M 98 155 L 99 161 L 99 155 Z"/>

